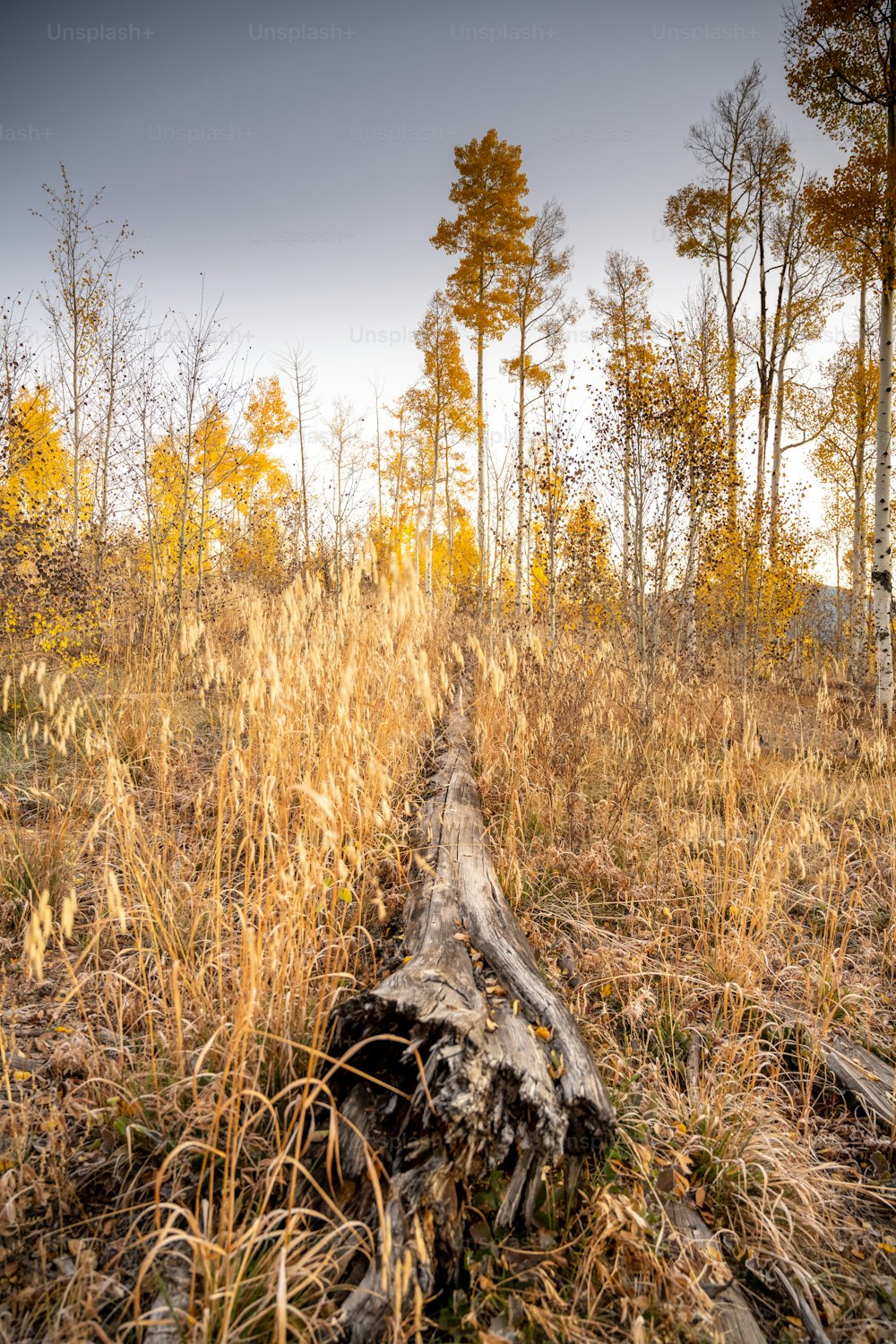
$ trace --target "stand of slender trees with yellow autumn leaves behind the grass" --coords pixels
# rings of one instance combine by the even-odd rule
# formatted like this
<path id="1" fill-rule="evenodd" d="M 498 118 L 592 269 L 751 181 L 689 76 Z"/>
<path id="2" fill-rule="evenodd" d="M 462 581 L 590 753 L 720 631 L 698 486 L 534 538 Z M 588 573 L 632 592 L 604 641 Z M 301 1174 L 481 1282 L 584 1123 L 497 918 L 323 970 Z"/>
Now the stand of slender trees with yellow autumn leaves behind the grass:
<path id="1" fill-rule="evenodd" d="M 301 343 L 250 374 L 204 285 L 193 312 L 156 319 L 132 230 L 63 167 L 32 211 L 47 280 L 0 327 L 7 636 L 89 657 L 122 575 L 183 618 L 234 582 L 313 571 L 339 593 L 375 555 L 552 640 L 611 628 L 647 672 L 719 649 L 743 671 L 818 646 L 799 613 L 833 554 L 825 648 L 856 684 L 873 676 L 889 720 L 896 9 L 848 8 L 806 4 L 786 31 L 794 99 L 846 151 L 832 180 L 798 161 L 758 65 L 690 126 L 695 175 L 664 215 L 695 262 L 676 314 L 618 247 L 583 312 L 563 206 L 529 202 L 524 146 L 494 128 L 459 145 L 419 375 L 387 401 L 375 386 L 372 409 L 322 405 Z M 574 360 L 580 321 L 592 344 Z M 785 487 L 797 448 L 821 520 Z"/>

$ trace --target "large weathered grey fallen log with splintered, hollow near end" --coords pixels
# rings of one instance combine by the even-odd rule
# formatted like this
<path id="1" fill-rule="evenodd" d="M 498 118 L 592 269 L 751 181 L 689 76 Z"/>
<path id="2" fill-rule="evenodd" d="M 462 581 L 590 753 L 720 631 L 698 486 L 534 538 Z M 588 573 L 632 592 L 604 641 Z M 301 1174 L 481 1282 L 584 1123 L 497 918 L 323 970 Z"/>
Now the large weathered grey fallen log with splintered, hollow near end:
<path id="1" fill-rule="evenodd" d="M 404 964 L 339 1013 L 352 1066 L 388 1083 L 355 1081 L 337 1098 L 343 1177 L 367 1181 L 379 1222 L 376 1255 L 334 1322 L 352 1341 L 377 1339 L 390 1314 L 419 1320 L 426 1296 L 455 1274 L 470 1183 L 513 1164 L 497 1222 L 531 1223 L 545 1165 L 578 1164 L 614 1133 L 591 1054 L 494 874 L 470 737 L 458 689 L 406 906 Z"/>

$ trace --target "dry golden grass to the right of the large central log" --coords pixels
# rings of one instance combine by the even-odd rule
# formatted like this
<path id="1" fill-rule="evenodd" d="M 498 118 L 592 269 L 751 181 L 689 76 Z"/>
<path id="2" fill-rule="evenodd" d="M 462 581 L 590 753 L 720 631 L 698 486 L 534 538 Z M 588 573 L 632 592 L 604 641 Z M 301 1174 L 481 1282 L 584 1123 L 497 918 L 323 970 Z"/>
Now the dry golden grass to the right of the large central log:
<path id="1" fill-rule="evenodd" d="M 693 1294 L 678 1292 L 673 1321 L 654 1220 L 658 1196 L 689 1193 L 725 1230 L 771 1337 L 805 1337 L 763 1292 L 778 1263 L 832 1339 L 892 1339 L 889 1136 L 825 1089 L 789 1027 L 837 1024 L 896 1052 L 892 741 L 823 684 L 768 684 L 744 712 L 724 680 L 670 671 L 647 694 L 598 640 L 552 657 L 537 638 L 476 652 L 502 880 L 621 1117 L 553 1337 L 575 1337 L 583 1301 L 604 1302 L 613 1337 L 607 1293 L 641 1302 L 642 1337 L 692 1337 Z M 618 1234 L 615 1261 L 594 1250 L 614 1191 L 645 1220 L 641 1238 L 634 1222 Z"/>

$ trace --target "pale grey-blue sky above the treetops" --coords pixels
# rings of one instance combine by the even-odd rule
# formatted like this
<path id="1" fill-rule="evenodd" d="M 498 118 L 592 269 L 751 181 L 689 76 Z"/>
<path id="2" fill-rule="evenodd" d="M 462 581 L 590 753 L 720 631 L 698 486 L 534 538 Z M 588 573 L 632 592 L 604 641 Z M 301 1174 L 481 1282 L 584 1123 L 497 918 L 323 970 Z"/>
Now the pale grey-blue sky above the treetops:
<path id="1" fill-rule="evenodd" d="M 192 312 L 204 271 L 259 371 L 298 337 L 324 401 L 369 403 L 373 375 L 390 399 L 416 376 L 412 331 L 449 270 L 429 238 L 453 148 L 490 126 L 523 145 L 529 203 L 564 204 L 579 298 L 625 247 L 661 313 L 696 280 L 661 222 L 695 175 L 682 141 L 754 59 L 798 157 L 837 156 L 787 101 L 778 0 L 35 0 L 3 22 L 0 290 L 47 274 L 28 210 L 62 160 L 136 228 L 156 314 Z"/>

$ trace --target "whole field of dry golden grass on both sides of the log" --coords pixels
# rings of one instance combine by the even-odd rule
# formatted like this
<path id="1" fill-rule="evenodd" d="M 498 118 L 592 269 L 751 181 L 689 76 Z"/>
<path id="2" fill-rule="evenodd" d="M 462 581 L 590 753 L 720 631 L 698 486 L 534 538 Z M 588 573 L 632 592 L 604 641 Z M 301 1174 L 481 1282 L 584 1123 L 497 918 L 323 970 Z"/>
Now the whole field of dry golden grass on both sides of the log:
<path id="1" fill-rule="evenodd" d="M 0 707 L 0 1339 L 125 1344 L 168 1297 L 187 1340 L 326 1340 L 376 1235 L 330 1012 L 400 957 L 458 630 L 396 575 L 244 595 L 173 652 L 138 629 Z M 598 640 L 469 649 L 498 868 L 621 1134 L 525 1242 L 492 1234 L 504 1173 L 469 1191 L 461 1282 L 395 1340 L 709 1339 L 685 1192 L 771 1337 L 805 1339 L 779 1263 L 836 1344 L 892 1339 L 889 1138 L 790 1020 L 896 1056 L 893 743 L 825 685 L 744 707 Z"/>

